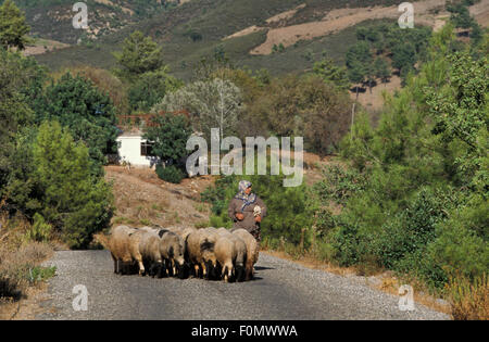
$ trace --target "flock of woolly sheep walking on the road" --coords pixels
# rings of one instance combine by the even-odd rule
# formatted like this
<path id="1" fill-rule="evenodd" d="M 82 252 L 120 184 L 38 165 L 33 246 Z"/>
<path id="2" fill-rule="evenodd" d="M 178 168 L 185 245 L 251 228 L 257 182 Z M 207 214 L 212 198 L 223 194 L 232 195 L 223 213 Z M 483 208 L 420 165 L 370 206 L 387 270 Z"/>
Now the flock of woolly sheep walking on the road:
<path id="1" fill-rule="evenodd" d="M 243 281 L 253 278 L 259 244 L 244 229 L 130 228 L 112 229 L 108 249 L 115 274 L 138 267 L 140 276 Z"/>

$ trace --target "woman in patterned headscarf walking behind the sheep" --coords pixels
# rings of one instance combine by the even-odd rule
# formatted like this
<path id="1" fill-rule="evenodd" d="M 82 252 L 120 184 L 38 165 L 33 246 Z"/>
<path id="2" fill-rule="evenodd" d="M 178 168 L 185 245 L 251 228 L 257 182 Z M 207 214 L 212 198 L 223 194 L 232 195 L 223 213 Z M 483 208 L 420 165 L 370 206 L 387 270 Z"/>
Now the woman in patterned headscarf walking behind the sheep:
<path id="1" fill-rule="evenodd" d="M 256 194 L 251 192 L 250 181 L 239 182 L 239 191 L 230 201 L 227 213 L 234 221 L 233 229 L 243 228 L 258 242 L 262 240 L 260 223 L 266 216 L 266 206 Z"/>

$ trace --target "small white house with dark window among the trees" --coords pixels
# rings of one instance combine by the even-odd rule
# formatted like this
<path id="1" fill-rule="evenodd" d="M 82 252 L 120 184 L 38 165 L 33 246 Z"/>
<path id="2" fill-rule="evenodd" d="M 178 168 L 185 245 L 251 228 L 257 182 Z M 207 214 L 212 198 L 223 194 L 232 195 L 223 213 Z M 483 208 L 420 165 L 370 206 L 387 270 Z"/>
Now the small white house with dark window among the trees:
<path id="1" fill-rule="evenodd" d="M 142 138 L 140 130 L 125 131 L 116 141 L 121 164 L 129 163 L 140 167 L 153 167 L 158 164 L 159 159 L 152 155 L 152 143 Z"/>

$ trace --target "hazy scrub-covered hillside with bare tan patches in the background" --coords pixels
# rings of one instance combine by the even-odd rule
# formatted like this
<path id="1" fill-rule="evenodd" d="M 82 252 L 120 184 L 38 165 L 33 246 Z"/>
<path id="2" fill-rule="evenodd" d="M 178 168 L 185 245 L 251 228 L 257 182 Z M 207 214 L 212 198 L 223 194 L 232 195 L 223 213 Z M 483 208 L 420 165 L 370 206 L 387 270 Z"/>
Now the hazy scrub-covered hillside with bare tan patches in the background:
<path id="1" fill-rule="evenodd" d="M 344 52 L 354 41 L 355 26 L 384 20 L 397 21 L 400 15 L 397 12 L 399 1 L 393 0 L 192 0 L 151 11 L 151 4 L 148 4 L 147 14 L 139 16 L 122 12 L 121 18 L 118 14 L 116 16 L 120 26 L 115 27 L 111 24 L 115 18 L 109 12 L 111 9 L 122 11 L 118 2 L 110 2 L 113 5 L 100 2 L 96 5 L 96 27 L 106 17 L 110 28 L 100 28 L 93 39 L 79 46 L 39 55 L 38 61 L 53 69 L 76 64 L 110 68 L 114 65 L 112 52 L 129 33 L 139 29 L 163 46 L 173 74 L 181 78 L 188 78 L 191 66 L 216 49 L 224 50 L 239 66 L 265 67 L 277 75 L 304 71 L 324 53 L 342 63 Z M 488 2 L 484 0 L 471 10 L 484 25 L 487 25 Z M 127 8 L 136 3 L 139 2 L 124 2 Z M 416 23 L 440 26 L 448 16 L 443 12 L 444 3 L 444 0 L 416 1 Z M 99 13 L 98 7 L 103 8 L 102 12 Z M 39 15 L 35 13 L 36 8 L 27 9 L 29 22 Z M 47 37 L 42 34 L 41 23 L 51 28 Z M 38 18 L 32 25 L 40 37 L 63 42 L 73 43 L 79 35 L 73 33 L 73 28 L 62 28 L 70 25 L 66 20 L 58 24 Z M 52 29 L 55 25 L 60 30 Z M 90 27 L 91 31 L 93 29 Z M 285 49 L 271 53 L 273 46 L 280 42 Z"/>

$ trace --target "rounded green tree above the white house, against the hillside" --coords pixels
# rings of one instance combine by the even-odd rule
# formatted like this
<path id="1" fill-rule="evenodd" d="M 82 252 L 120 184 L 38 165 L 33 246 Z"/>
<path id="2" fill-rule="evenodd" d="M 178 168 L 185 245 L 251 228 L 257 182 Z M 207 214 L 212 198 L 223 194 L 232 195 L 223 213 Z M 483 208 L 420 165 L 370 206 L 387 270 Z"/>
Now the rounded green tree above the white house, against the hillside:
<path id="1" fill-rule="evenodd" d="M 164 66 L 161 48 L 151 37 L 145 37 L 139 30 L 124 39 L 122 51 L 115 52 L 114 56 L 121 66 L 117 74 L 128 80 L 134 80 L 141 74 L 155 72 Z"/>

